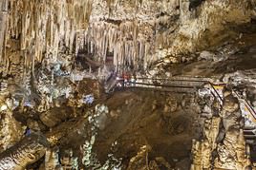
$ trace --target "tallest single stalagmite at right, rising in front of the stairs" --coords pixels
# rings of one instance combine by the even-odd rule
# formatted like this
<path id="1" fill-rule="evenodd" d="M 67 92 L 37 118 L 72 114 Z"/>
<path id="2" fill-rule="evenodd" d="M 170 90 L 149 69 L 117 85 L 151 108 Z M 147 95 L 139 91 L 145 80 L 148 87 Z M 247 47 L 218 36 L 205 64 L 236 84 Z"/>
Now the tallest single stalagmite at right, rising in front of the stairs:
<path id="1" fill-rule="evenodd" d="M 224 93 L 225 94 L 225 93 Z M 215 168 L 220 169 L 245 169 L 250 165 L 246 155 L 246 145 L 241 125 L 241 111 L 239 102 L 232 94 L 224 97 L 223 110 L 220 116 L 224 124 L 224 141 L 217 146 L 218 157 L 215 159 Z"/>

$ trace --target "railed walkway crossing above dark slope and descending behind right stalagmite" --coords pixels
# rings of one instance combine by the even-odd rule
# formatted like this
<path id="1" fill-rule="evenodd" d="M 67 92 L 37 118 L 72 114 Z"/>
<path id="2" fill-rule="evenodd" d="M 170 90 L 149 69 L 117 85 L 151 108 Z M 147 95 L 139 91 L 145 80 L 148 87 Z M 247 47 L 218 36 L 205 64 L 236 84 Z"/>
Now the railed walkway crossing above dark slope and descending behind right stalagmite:
<path id="1" fill-rule="evenodd" d="M 108 85 L 108 91 L 115 90 L 117 87 L 116 77 L 112 78 L 111 84 Z M 178 93 L 209 93 L 214 98 L 218 99 L 222 105 L 224 83 L 214 83 L 209 78 L 197 77 L 172 77 L 170 79 L 150 79 L 137 78 L 136 83 L 129 82 L 124 85 L 124 88 L 146 88 L 150 90 L 178 92 Z M 256 139 L 256 112 L 251 104 L 246 101 L 237 91 L 233 90 L 233 95 L 238 98 L 242 115 L 245 118 L 245 139 Z"/>

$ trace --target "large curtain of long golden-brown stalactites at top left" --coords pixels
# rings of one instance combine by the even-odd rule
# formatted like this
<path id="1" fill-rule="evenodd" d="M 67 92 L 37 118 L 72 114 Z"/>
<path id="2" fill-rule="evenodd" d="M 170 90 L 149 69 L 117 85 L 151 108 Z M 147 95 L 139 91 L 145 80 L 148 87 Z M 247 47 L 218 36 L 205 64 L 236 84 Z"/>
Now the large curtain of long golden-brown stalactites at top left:
<path id="1" fill-rule="evenodd" d="M 92 3 L 92 0 L 40 3 L 11 0 L 8 39 L 20 37 L 21 50 L 32 50 L 35 63 L 42 61 L 43 53 L 51 54 L 51 60 L 55 61 L 62 40 L 72 52 L 75 31 L 88 25 Z"/>

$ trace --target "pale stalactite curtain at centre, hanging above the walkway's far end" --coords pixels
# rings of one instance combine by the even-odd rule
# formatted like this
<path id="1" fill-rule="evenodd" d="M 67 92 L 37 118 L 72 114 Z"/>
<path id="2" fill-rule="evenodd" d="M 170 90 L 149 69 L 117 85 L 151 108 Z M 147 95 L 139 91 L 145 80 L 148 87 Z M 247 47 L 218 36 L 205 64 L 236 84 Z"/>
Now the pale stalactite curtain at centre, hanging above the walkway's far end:
<path id="1" fill-rule="evenodd" d="M 97 57 L 95 60 L 105 63 L 109 53 L 113 54 L 114 66 L 145 67 L 146 57 L 151 53 L 149 46 L 153 45 L 153 39 L 146 47 L 148 37 L 139 34 L 137 21 L 126 21 L 119 25 L 104 21 L 91 23 L 84 34 L 76 34 L 78 39 L 84 39 L 76 45 L 78 48 L 87 48 L 88 53 Z M 86 36 L 86 37 L 80 37 Z M 78 50 L 78 49 L 76 49 Z M 143 62 L 144 61 L 144 62 Z"/>

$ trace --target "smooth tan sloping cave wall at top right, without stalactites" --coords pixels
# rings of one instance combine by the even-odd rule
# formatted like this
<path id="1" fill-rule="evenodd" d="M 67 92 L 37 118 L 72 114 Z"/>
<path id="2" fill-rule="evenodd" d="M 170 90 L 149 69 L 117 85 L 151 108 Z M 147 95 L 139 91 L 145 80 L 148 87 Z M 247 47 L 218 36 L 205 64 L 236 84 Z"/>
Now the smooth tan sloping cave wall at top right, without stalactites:
<path id="1" fill-rule="evenodd" d="M 194 13 L 193 13 L 194 12 Z M 255 16 L 255 1 L 204 1 L 191 11 L 190 18 L 182 20 L 174 43 L 168 48 L 166 55 L 193 53 L 213 46 L 220 46 L 239 32 L 229 26 L 240 27 L 250 23 Z"/>

